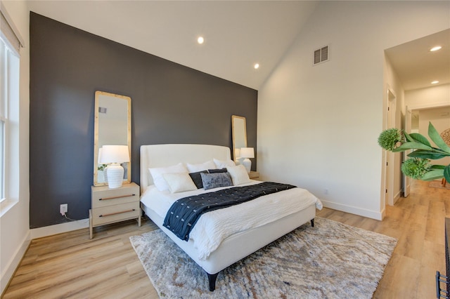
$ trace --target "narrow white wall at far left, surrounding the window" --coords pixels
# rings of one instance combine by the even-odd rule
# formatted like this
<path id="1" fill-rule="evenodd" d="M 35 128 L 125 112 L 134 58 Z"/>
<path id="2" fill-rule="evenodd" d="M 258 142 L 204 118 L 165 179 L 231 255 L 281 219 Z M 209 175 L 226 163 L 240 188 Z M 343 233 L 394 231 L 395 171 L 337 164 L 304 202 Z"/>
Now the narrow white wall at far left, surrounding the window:
<path id="1" fill-rule="evenodd" d="M 13 19 L 20 35 L 25 39 L 25 48 L 20 50 L 20 102 L 18 105 L 19 147 L 13 154 L 18 154 L 18 192 L 16 202 L 8 207 L 0 217 L 0 270 L 1 293 L 25 253 L 30 243 L 30 175 L 29 175 L 29 140 L 30 140 L 30 12 L 25 1 L 2 1 L 6 11 Z"/>

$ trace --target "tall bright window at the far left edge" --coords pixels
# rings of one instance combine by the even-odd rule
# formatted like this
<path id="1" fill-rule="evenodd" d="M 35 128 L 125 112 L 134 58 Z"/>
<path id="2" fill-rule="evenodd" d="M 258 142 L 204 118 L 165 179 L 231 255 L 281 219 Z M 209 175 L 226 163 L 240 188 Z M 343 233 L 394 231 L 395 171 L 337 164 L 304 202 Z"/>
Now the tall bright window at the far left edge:
<path id="1" fill-rule="evenodd" d="M 2 6 L 3 8 L 3 6 Z M 11 196 L 11 186 L 16 185 L 13 170 L 18 149 L 18 102 L 20 41 L 1 11 L 0 29 L 0 203 Z M 14 161 L 11 162 L 11 159 Z M 11 185 L 13 183 L 13 185 Z M 13 188 L 14 189 L 14 188 Z M 14 192 L 15 193 L 15 192 Z M 3 207 L 2 207 L 3 208 Z"/>

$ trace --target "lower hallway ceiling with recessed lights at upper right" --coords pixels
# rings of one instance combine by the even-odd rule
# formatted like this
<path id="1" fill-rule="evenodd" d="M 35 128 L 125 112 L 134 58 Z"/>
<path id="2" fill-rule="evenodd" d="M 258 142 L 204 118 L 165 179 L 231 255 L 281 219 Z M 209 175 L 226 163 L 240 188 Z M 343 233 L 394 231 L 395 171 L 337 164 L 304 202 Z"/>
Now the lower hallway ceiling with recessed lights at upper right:
<path id="1" fill-rule="evenodd" d="M 441 50 L 430 52 L 438 45 Z M 450 84 L 450 29 L 389 48 L 385 53 L 405 91 L 430 87 L 435 80 Z"/>

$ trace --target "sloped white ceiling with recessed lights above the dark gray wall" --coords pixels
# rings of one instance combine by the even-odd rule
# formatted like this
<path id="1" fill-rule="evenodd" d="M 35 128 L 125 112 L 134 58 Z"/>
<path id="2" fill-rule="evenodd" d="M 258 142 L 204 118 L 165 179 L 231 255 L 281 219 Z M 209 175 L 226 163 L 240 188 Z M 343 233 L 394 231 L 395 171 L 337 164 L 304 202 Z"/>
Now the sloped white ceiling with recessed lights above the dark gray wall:
<path id="1" fill-rule="evenodd" d="M 259 89 L 319 1 L 30 1 L 30 10 Z M 205 37 L 203 45 L 198 36 Z M 253 65 L 259 63 L 259 69 Z"/>

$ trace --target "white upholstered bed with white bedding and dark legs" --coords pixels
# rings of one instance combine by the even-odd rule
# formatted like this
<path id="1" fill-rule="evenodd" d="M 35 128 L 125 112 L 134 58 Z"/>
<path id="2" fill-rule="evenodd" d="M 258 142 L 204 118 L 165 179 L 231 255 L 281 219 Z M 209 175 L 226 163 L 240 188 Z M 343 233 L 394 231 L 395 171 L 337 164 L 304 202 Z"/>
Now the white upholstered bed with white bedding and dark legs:
<path id="1" fill-rule="evenodd" d="M 222 208 L 220 210 L 212 211 L 210 213 L 203 214 L 198 222 L 193 227 L 191 236 L 188 241 L 184 241 L 176 237 L 176 235 L 167 229 L 163 225 L 165 221 L 164 213 L 169 208 L 169 201 L 174 201 L 177 198 L 190 196 L 191 194 L 201 194 L 203 192 L 213 192 L 212 190 L 193 190 L 188 192 L 171 193 L 169 191 L 160 192 L 155 187 L 153 177 L 150 174 L 150 168 L 164 168 L 167 166 L 174 166 L 176 164 L 202 164 L 205 161 L 221 161 L 229 163 L 231 161 L 231 154 L 229 147 L 223 147 L 218 145 L 188 145 L 188 144 L 173 144 L 173 145 L 142 145 L 141 146 L 141 209 L 143 212 L 155 222 L 160 229 L 167 234 L 183 251 L 185 251 L 200 267 L 205 270 L 208 277 L 210 291 L 214 291 L 217 275 L 221 270 L 224 270 L 229 265 L 236 263 L 238 260 L 245 258 L 247 255 L 257 251 L 259 248 L 266 246 L 272 241 L 282 237 L 284 234 L 295 230 L 295 228 L 303 225 L 306 222 L 311 222 L 314 226 L 314 217 L 316 215 L 316 208 L 321 208 L 321 202 L 314 197 L 307 190 L 300 188 L 293 188 L 291 190 L 285 190 L 278 192 L 277 194 L 269 194 L 252 201 L 232 206 L 229 208 Z M 217 165 L 219 166 L 219 165 Z M 250 180 L 243 185 L 255 185 L 260 182 Z M 226 189 L 227 187 L 217 188 Z M 301 193 L 298 195 L 298 193 Z M 162 194 L 164 193 L 164 194 Z M 161 195 L 162 194 L 162 195 Z M 281 207 L 280 215 L 270 215 L 270 217 L 260 217 L 258 215 L 252 215 L 252 220 L 248 220 L 248 215 L 238 215 L 237 213 L 244 213 L 248 211 L 251 213 L 255 208 L 259 210 L 259 207 L 264 206 L 266 203 L 272 203 L 274 200 L 278 203 L 278 199 L 275 196 L 281 196 L 283 200 L 297 200 L 290 199 L 293 197 L 301 197 L 302 204 L 295 204 L 298 208 Z M 157 197 L 162 196 L 164 198 L 163 204 L 157 203 Z M 273 197 L 273 198 L 272 198 Z M 276 204 L 276 206 L 282 206 Z M 243 208 L 245 207 L 245 208 Z M 271 214 L 275 214 L 271 207 L 266 210 L 271 211 Z M 238 211 L 239 210 L 239 211 Z M 264 208 L 261 208 L 264 211 Z M 288 211 L 288 212 L 286 212 Z M 234 215 L 233 217 L 224 216 Z M 240 225 L 248 226 L 243 229 L 240 227 L 238 231 L 231 231 L 221 234 L 223 239 L 214 240 L 215 244 L 210 246 L 205 252 L 203 248 L 202 236 L 206 233 L 211 234 L 211 239 L 217 239 L 219 235 L 213 232 L 206 232 L 201 225 L 209 227 L 214 226 L 216 218 L 224 218 L 225 221 L 229 218 L 239 220 L 245 219 Z M 203 221 L 204 220 L 204 221 Z M 222 219 L 223 220 L 223 219 Z M 251 223 L 247 225 L 248 223 Z M 229 223 L 233 227 L 234 223 Z M 221 225 L 219 225 L 221 226 Z M 199 232 L 200 231 L 200 232 Z M 209 237 L 208 237 L 209 238 Z M 205 239 L 208 239 L 205 237 Z M 209 241 L 208 241 L 209 242 Z M 212 241 L 211 241 L 212 242 Z M 210 245 L 210 244 L 209 244 Z M 169 257 L 168 257 L 169 258 Z"/>

